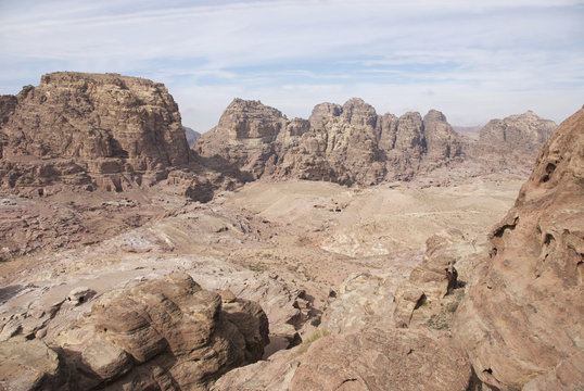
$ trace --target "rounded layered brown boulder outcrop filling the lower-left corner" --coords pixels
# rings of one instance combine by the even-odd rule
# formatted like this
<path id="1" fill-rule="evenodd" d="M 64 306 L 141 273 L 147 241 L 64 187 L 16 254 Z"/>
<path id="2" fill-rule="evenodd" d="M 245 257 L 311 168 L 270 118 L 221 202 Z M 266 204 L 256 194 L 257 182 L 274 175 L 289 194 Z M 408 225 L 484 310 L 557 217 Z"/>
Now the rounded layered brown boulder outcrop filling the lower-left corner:
<path id="1" fill-rule="evenodd" d="M 262 357 L 268 320 L 254 302 L 170 274 L 103 294 L 91 313 L 48 339 L 50 349 L 22 337 L 0 342 L 0 386 L 205 390 Z"/>

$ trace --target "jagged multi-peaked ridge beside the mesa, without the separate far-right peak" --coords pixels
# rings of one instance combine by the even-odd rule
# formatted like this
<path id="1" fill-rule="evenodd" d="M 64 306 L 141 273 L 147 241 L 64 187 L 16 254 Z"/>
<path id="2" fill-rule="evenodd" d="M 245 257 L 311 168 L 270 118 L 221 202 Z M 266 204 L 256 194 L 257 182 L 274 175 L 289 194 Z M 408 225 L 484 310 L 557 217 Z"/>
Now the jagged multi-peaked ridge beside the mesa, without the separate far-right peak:
<path id="1" fill-rule="evenodd" d="M 447 164 L 461 151 L 444 115 L 431 111 L 397 118 L 353 98 L 321 103 L 308 121 L 236 99 L 219 124 L 194 146 L 200 156 L 241 169 L 249 179 L 301 178 L 378 184 L 410 179 Z"/>

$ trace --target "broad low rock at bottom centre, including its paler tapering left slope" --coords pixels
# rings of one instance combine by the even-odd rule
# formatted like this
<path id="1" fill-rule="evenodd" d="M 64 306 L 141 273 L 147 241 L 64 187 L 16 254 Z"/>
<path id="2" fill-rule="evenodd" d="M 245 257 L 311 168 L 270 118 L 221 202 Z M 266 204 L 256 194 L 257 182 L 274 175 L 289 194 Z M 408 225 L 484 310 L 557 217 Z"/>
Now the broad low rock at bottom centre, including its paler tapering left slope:
<path id="1" fill-rule="evenodd" d="M 213 390 L 464 391 L 471 381 L 466 354 L 452 341 L 421 330 L 372 327 L 279 352 L 230 371 Z"/>

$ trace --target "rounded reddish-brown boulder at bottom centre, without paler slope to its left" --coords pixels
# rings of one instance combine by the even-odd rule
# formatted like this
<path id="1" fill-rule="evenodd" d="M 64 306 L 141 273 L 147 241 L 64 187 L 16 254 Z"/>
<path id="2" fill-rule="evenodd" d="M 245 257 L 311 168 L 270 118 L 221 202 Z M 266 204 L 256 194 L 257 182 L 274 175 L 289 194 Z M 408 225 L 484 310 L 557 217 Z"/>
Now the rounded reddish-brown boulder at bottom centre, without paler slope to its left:
<path id="1" fill-rule="evenodd" d="M 465 352 L 419 330 L 370 330 L 314 342 L 290 390 L 467 390 Z"/>

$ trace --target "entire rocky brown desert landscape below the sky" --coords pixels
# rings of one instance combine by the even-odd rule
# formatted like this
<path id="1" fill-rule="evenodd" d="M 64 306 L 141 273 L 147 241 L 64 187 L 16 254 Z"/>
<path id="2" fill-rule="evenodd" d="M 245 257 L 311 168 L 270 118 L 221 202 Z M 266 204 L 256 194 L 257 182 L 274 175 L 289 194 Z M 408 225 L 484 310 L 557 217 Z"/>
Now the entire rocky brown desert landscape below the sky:
<path id="1" fill-rule="evenodd" d="M 189 149 L 150 80 L 3 102 L 8 390 L 582 384 L 582 110 L 469 140 L 436 111 L 236 99 Z"/>

